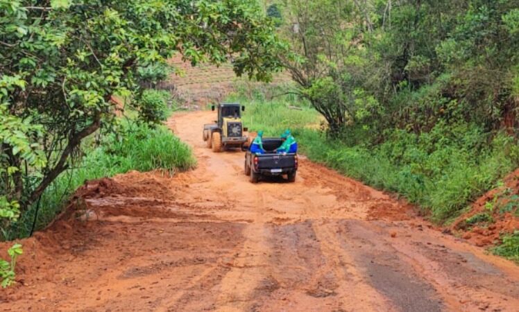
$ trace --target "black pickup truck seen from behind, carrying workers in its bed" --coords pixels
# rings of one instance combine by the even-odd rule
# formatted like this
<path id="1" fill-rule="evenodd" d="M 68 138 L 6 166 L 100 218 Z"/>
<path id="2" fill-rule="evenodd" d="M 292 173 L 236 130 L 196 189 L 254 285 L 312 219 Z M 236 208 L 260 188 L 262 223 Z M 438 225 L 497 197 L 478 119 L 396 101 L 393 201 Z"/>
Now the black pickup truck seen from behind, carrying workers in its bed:
<path id="1" fill-rule="evenodd" d="M 289 182 L 295 182 L 298 155 L 275 152 L 275 149 L 283 144 L 283 139 L 264 138 L 262 142 L 264 154 L 251 153 L 250 147 L 245 154 L 245 174 L 250 176 L 250 182 L 257 183 L 262 175 L 287 175 Z"/>

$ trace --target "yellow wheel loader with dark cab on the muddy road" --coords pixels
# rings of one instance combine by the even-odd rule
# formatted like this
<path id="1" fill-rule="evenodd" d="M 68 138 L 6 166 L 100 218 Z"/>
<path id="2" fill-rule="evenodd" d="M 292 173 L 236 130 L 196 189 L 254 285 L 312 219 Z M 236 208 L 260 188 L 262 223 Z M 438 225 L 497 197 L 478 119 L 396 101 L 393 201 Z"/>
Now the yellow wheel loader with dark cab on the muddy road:
<path id="1" fill-rule="evenodd" d="M 245 107 L 239 103 L 221 103 L 216 107 L 212 105 L 211 110 L 218 110 L 218 119 L 203 126 L 203 140 L 207 142 L 207 148 L 212 148 L 215 153 L 231 147 L 245 150 L 249 144 L 248 130 L 241 122 L 241 112 L 245 111 Z"/>

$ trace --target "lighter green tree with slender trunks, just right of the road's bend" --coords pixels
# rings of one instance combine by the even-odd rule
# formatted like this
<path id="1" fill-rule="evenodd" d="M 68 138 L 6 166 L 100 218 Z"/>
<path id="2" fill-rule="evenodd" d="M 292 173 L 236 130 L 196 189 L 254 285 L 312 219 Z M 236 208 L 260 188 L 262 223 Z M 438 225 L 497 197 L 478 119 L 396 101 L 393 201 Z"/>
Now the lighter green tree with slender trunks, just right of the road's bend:
<path id="1" fill-rule="evenodd" d="M 284 65 L 298 84 L 298 93 L 323 114 L 333 135 L 381 111 L 377 99 L 367 92 L 377 76 L 365 79 L 376 64 L 365 40 L 372 21 L 364 19 L 364 7 L 357 4 L 284 1 L 287 17 L 282 33 L 293 49 Z"/>

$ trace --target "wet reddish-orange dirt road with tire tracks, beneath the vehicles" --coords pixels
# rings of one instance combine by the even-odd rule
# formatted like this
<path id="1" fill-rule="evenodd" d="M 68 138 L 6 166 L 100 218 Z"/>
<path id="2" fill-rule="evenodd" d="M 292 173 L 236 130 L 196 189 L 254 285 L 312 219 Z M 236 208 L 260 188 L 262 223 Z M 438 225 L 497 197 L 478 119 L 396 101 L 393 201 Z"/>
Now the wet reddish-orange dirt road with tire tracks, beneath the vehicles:
<path id="1" fill-rule="evenodd" d="M 519 311 L 515 264 L 304 159 L 296 183 L 250 184 L 243 153 L 205 148 L 212 117 L 169 121 L 195 171 L 90 183 L 89 220 L 24 241 L 0 311 Z"/>

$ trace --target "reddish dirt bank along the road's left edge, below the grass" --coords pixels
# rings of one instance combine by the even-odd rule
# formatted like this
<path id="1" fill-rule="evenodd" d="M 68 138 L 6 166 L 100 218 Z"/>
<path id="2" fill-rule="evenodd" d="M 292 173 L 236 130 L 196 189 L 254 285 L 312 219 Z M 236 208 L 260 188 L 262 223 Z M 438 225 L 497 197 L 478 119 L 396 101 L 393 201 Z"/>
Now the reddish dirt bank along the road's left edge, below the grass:
<path id="1" fill-rule="evenodd" d="M 29 281 L 28 277 L 41 274 L 42 270 L 45 270 L 44 279 L 56 275 L 56 269 L 52 266 L 56 254 L 65 257 L 80 252 L 85 246 L 81 239 L 78 242 L 78 238 L 95 241 L 94 236 L 101 229 L 100 225 L 107 222 L 101 216 L 128 216 L 142 220 L 182 217 L 164 207 L 174 197 L 168 192 L 167 180 L 160 173 L 130 172 L 113 179 L 85 182 L 46 229 L 28 239 L 0 243 L 1 259 L 8 259 L 6 250 L 14 243 L 21 243 L 24 248 L 24 261 L 17 263 L 17 284 L 10 291 L 15 292 L 17 288 L 37 282 L 33 279 Z"/>

